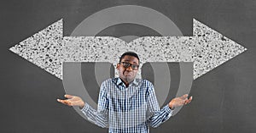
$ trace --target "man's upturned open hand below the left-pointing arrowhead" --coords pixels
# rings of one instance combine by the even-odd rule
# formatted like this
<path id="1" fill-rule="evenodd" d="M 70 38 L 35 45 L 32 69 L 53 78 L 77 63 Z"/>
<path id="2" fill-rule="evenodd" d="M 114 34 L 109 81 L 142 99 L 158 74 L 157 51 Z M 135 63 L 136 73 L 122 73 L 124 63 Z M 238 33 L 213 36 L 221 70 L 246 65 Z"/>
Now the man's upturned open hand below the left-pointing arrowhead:
<path id="1" fill-rule="evenodd" d="M 82 100 L 81 97 L 78 96 L 72 96 L 72 95 L 64 95 L 64 97 L 66 97 L 67 99 L 65 100 L 61 100 L 61 99 L 57 99 L 57 101 L 59 103 L 63 103 L 66 104 L 68 106 L 79 106 L 79 108 L 84 108 L 84 101 Z"/>

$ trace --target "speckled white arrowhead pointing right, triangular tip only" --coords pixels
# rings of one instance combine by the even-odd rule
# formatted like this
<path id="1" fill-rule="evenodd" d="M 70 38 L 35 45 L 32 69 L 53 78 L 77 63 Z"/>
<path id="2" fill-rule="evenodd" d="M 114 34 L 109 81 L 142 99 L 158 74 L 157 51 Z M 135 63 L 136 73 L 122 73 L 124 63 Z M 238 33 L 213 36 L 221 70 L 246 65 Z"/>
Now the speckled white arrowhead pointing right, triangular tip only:
<path id="1" fill-rule="evenodd" d="M 243 53 L 247 48 L 193 19 L 194 79 Z"/>

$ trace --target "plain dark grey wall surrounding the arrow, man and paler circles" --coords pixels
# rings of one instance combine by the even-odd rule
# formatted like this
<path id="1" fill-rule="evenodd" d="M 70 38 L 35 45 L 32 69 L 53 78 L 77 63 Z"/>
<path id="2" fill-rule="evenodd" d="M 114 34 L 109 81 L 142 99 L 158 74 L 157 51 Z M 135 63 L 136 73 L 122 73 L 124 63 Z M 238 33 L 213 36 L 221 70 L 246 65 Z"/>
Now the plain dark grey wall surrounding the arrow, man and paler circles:
<path id="1" fill-rule="evenodd" d="M 195 80 L 190 91 L 193 102 L 151 132 L 256 130 L 256 1 L 1 0 L 0 132 L 108 132 L 84 120 L 73 108 L 57 103 L 56 98 L 65 94 L 61 80 L 8 49 L 61 18 L 68 36 L 90 14 L 123 4 L 142 5 L 165 14 L 184 36 L 192 36 L 192 18 L 198 19 L 248 49 Z M 126 31 L 127 25 L 116 25 L 99 36 L 158 35 L 141 25 L 128 26 L 134 32 Z"/>

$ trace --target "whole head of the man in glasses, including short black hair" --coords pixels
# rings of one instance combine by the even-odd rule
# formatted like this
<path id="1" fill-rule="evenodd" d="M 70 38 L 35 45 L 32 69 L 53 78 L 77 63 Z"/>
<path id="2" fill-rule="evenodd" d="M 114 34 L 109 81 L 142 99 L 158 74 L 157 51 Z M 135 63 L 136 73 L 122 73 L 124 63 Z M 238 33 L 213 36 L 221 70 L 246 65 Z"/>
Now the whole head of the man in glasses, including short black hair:
<path id="1" fill-rule="evenodd" d="M 126 52 L 119 58 L 117 69 L 119 70 L 119 77 L 125 81 L 125 84 L 131 83 L 136 78 L 140 59 L 137 53 Z"/>

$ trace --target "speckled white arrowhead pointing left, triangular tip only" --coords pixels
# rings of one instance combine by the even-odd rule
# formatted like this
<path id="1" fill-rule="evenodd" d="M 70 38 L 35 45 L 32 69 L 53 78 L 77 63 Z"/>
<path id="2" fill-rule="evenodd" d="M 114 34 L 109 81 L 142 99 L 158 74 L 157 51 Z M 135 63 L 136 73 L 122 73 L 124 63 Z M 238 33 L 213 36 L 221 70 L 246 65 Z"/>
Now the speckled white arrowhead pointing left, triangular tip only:
<path id="1" fill-rule="evenodd" d="M 62 27 L 60 19 L 9 50 L 61 78 Z"/>

